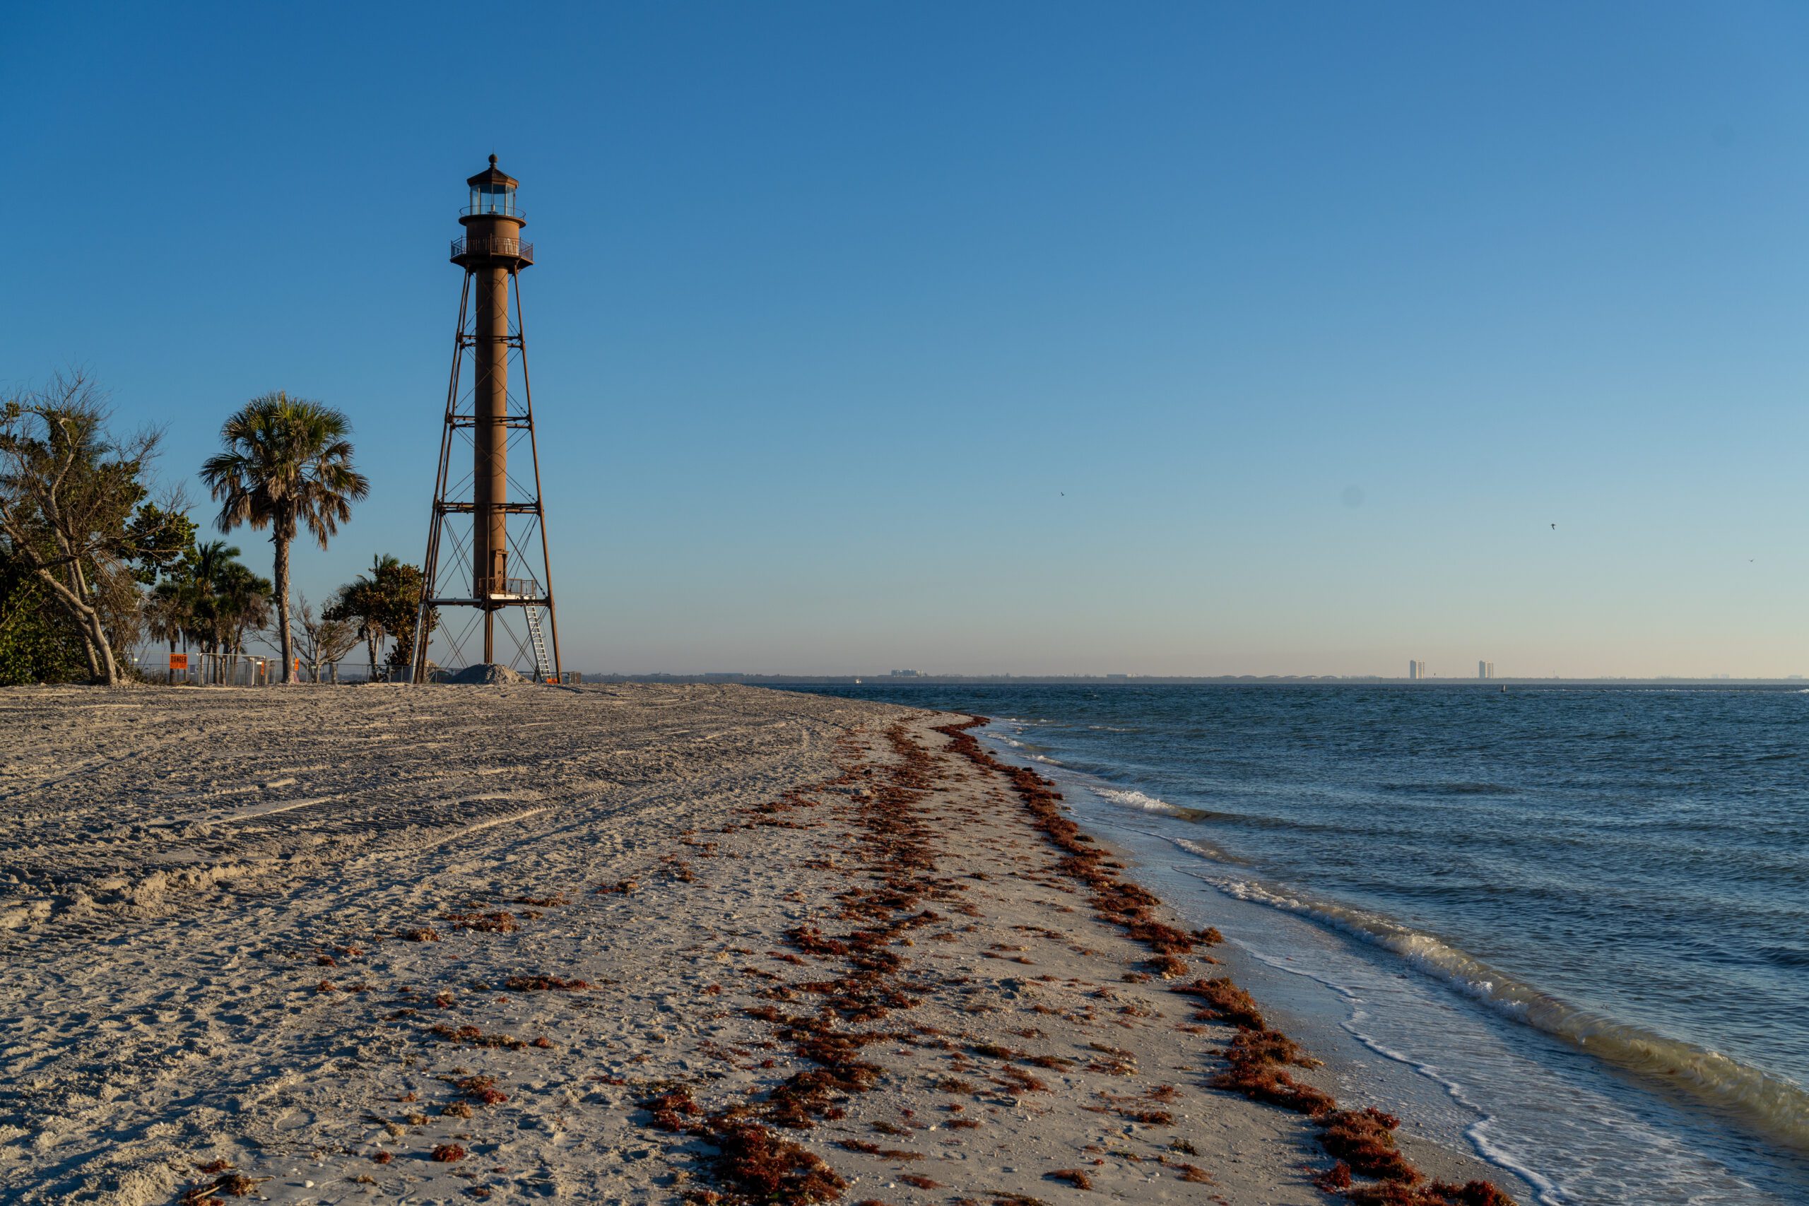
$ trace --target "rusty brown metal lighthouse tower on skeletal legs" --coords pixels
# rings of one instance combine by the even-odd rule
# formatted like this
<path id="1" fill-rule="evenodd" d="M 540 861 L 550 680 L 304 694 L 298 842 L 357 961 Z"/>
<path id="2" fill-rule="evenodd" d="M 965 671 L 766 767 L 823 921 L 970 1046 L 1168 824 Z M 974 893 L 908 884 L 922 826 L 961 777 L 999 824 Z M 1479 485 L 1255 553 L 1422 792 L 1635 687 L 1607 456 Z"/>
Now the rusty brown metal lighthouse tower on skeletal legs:
<path id="1" fill-rule="evenodd" d="M 521 269 L 534 264 L 534 244 L 521 240 L 526 219 L 516 204 L 517 181 L 496 166 L 496 155 L 465 183 L 470 186 L 470 204 L 459 217 L 465 235 L 452 240 L 452 262 L 465 269 L 465 287 L 414 626 L 414 682 L 427 682 L 434 640 L 449 667 L 478 662 L 479 629 L 481 662 L 557 682 L 559 622 L 521 325 Z M 512 380 L 519 382 L 514 389 Z M 470 472 L 463 474 L 467 445 Z M 519 470 L 523 450 L 532 466 L 526 479 L 508 472 L 508 454 L 517 454 Z M 436 633 L 434 620 L 445 609 L 469 611 L 447 615 Z"/>

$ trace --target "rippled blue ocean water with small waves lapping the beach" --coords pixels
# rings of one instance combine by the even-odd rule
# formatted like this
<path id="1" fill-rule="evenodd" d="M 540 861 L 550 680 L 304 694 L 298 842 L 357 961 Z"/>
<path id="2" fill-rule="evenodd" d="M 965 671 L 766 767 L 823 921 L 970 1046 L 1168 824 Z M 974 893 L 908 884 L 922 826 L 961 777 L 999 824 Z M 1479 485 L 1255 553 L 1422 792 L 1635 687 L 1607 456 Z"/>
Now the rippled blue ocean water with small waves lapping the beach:
<path id="1" fill-rule="evenodd" d="M 993 718 L 1523 1201 L 1809 1202 L 1809 693 L 810 689 Z"/>

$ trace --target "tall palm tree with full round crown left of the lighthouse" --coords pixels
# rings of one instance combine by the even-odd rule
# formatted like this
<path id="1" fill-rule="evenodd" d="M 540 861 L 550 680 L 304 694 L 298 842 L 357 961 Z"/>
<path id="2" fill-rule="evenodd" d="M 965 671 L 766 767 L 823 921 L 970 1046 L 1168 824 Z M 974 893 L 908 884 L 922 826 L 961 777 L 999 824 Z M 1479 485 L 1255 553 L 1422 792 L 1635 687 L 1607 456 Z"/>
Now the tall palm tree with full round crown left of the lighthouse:
<path id="1" fill-rule="evenodd" d="M 306 528 L 320 548 L 351 519 L 371 483 L 351 466 L 351 423 L 333 407 L 286 392 L 253 398 L 221 427 L 224 452 L 201 466 L 221 503 L 219 530 L 270 528 L 277 546 L 275 604 L 282 635 L 282 682 L 295 682 L 289 633 L 289 542 Z"/>

